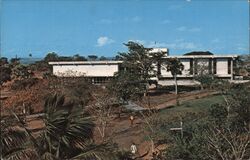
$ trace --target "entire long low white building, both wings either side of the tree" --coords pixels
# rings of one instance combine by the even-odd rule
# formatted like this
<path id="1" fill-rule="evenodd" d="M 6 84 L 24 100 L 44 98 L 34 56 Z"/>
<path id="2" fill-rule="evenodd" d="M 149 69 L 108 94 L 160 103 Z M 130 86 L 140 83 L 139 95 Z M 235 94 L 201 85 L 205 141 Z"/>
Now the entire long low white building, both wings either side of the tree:
<path id="1" fill-rule="evenodd" d="M 155 50 L 157 51 L 157 50 Z M 206 73 L 219 78 L 234 79 L 234 64 L 237 55 L 184 55 L 166 56 L 163 58 L 178 58 L 184 65 L 184 70 L 178 79 L 193 79 L 199 69 L 205 68 Z M 93 83 L 103 83 L 110 80 L 115 72 L 122 69 L 122 61 L 61 61 L 49 62 L 53 66 L 53 74 L 59 77 L 85 76 Z M 200 67 L 200 68 L 199 68 Z M 160 74 L 157 80 L 171 79 L 172 75 L 163 67 L 156 67 Z"/>

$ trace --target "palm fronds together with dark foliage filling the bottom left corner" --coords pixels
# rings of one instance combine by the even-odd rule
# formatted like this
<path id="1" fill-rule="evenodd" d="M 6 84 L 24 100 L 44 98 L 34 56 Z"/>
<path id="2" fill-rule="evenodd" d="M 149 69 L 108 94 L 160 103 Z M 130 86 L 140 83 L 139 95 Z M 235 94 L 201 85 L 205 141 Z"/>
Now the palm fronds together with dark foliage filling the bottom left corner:
<path id="1" fill-rule="evenodd" d="M 110 144 L 93 143 L 94 123 L 81 108 L 75 107 L 72 102 L 65 103 L 64 96 L 58 94 L 50 96 L 44 107 L 45 128 L 38 136 L 34 136 L 26 127 L 26 123 L 13 113 L 23 130 L 19 132 L 4 129 L 6 134 L 3 134 L 1 143 L 6 148 L 3 149 L 1 157 L 15 156 L 16 159 L 21 159 L 22 156 L 26 156 L 26 159 L 103 159 L 107 155 L 112 157 L 112 153 L 109 152 Z M 7 126 L 6 122 L 1 121 L 1 123 Z M 8 138 L 11 136 L 13 139 Z M 24 143 L 24 140 L 28 141 Z M 22 151 L 19 152 L 20 155 L 16 153 L 18 149 Z"/>

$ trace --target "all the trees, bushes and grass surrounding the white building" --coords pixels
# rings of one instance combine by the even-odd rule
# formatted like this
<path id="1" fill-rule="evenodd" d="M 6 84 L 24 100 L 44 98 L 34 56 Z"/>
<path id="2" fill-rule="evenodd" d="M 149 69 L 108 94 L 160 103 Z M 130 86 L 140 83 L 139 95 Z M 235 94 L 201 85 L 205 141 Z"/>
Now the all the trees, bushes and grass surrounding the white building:
<path id="1" fill-rule="evenodd" d="M 123 60 L 124 70 L 116 73 L 107 85 L 110 92 L 91 85 L 84 77 L 32 77 L 32 72 L 39 70 L 39 66 L 45 68 L 43 71 L 48 70 L 48 61 L 70 58 L 86 60 L 79 55 L 69 58 L 49 53 L 43 61 L 34 64 L 34 68 L 20 65 L 17 59 L 9 64 L 2 58 L 1 71 L 4 72 L 1 84 L 13 78 L 11 88 L 20 94 L 7 100 L 17 103 L 16 105 L 10 103 L 6 106 L 25 107 L 37 103 L 41 107 L 41 99 L 45 95 L 48 98 L 42 109 L 44 116 L 40 118 L 44 128 L 36 134 L 25 121 L 27 118 L 18 115 L 20 112 L 17 113 L 16 110 L 16 113 L 1 119 L 0 158 L 132 159 L 133 155 L 118 149 L 110 141 L 113 135 L 108 128 L 116 122 L 115 111 L 120 107 L 121 101 L 126 103 L 140 99 L 143 94 L 148 95 L 150 79 L 156 75 L 159 77 L 155 65 L 162 65 L 171 72 L 176 82 L 177 94 L 176 77 L 183 70 L 183 65 L 177 59 L 169 59 L 164 64 L 161 61 L 163 53 L 153 54 L 150 48 L 143 45 L 134 42 L 125 45 L 128 52 L 120 53 L 117 57 Z M 105 57 L 100 59 L 104 60 Z M 207 77 L 202 69 L 199 73 L 195 78 L 201 82 L 201 88 L 211 86 L 219 94 L 180 101 L 180 105 L 159 112 L 150 110 L 148 114 L 135 114 L 140 117 L 140 120 L 136 119 L 140 123 L 135 128 L 144 129 L 139 130 L 138 134 L 149 140 L 153 159 L 249 159 L 249 86 L 233 85 L 228 81 Z M 125 114 L 123 118 L 127 119 L 127 116 Z M 179 130 L 170 131 L 180 127 Z M 134 131 L 133 129 L 131 127 L 121 132 Z M 94 134 L 101 137 L 98 143 L 94 141 Z"/>

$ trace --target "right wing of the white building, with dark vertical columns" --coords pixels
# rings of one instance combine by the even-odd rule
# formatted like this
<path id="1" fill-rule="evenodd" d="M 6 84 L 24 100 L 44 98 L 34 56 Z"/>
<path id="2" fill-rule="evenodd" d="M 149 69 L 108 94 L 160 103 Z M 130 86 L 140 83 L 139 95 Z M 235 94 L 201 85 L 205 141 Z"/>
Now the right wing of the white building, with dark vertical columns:
<path id="1" fill-rule="evenodd" d="M 216 77 L 233 79 L 234 66 L 237 55 L 192 55 L 192 56 L 168 56 L 167 58 L 178 58 L 184 65 L 180 78 L 192 78 L 199 70 L 206 70 L 208 74 Z M 167 59 L 166 58 L 166 59 Z M 172 77 L 170 72 L 161 69 L 163 78 Z"/>

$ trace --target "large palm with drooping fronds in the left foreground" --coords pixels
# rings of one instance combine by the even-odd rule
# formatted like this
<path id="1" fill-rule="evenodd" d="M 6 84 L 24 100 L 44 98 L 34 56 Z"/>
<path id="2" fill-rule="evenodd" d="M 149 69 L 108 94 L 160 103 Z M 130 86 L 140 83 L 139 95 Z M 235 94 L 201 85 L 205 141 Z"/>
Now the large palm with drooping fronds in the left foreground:
<path id="1" fill-rule="evenodd" d="M 45 128 L 34 137 L 17 116 L 31 141 L 37 159 L 100 159 L 112 149 L 108 143 L 96 145 L 92 141 L 94 123 L 81 107 L 65 103 L 63 95 L 55 94 L 45 101 Z M 107 149 L 107 151 L 105 151 Z"/>

